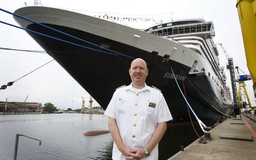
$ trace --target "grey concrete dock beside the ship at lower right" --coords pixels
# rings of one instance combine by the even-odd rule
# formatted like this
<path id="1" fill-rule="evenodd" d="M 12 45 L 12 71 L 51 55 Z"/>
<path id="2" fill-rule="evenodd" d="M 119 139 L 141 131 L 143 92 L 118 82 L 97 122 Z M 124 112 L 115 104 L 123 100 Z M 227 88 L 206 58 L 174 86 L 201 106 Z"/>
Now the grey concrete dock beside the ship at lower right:
<path id="1" fill-rule="evenodd" d="M 196 140 L 168 160 L 256 160 L 256 123 L 241 116 L 212 129 L 212 141 Z"/>

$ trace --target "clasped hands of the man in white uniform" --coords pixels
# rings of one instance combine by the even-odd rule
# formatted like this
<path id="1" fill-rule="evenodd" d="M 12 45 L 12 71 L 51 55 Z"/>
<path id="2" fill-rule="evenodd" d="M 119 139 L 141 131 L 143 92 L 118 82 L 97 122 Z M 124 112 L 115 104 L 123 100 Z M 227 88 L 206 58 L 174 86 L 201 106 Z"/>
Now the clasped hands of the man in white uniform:
<path id="1" fill-rule="evenodd" d="M 124 146 L 120 151 L 125 156 L 125 160 L 139 160 L 146 156 L 143 148 L 133 150 L 131 147 Z"/>

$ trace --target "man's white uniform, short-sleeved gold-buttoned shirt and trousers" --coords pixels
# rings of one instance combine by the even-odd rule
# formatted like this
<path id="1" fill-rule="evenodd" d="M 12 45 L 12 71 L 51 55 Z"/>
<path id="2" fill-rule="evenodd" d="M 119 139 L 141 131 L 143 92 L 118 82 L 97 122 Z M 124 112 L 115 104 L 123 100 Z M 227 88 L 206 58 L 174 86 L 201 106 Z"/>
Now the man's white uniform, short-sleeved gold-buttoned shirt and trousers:
<path id="1" fill-rule="evenodd" d="M 132 83 L 116 90 L 104 114 L 116 119 L 124 145 L 132 149 L 143 148 L 147 145 L 157 123 L 173 119 L 163 94 L 155 88 L 147 86 L 146 83 L 138 93 L 132 87 Z M 125 159 L 115 142 L 112 159 Z M 142 160 L 157 159 L 158 144 L 151 151 L 150 156 Z"/>

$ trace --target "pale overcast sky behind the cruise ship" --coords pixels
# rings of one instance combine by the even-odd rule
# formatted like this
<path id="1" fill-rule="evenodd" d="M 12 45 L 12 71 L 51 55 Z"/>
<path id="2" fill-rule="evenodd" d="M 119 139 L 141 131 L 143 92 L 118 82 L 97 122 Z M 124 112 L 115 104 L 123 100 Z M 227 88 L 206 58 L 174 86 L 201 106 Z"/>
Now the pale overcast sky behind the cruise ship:
<path id="1" fill-rule="evenodd" d="M 14 12 L 16 9 L 27 5 L 32 5 L 33 0 L 1 0 L 1 8 Z M 233 57 L 234 65 L 239 66 L 244 72 L 249 74 L 246 67 L 246 58 L 242 40 L 241 27 L 239 23 L 236 0 L 168 0 L 168 1 L 84 1 L 84 0 L 41 0 L 43 5 L 54 6 L 64 9 L 87 10 L 91 12 L 82 12 L 88 15 L 99 15 L 94 12 L 104 12 L 109 16 L 116 14 L 123 17 L 134 17 L 135 14 L 145 15 L 145 18 L 152 18 L 147 14 L 173 13 L 173 19 L 203 18 L 206 21 L 213 21 L 216 37 L 215 43 L 222 43 L 228 54 Z M 101 14 L 102 15 L 102 14 Z M 164 20 L 169 22 L 171 14 L 155 15 L 156 21 Z M 0 20 L 14 25 L 12 15 L 0 12 Z M 128 23 L 128 26 L 140 29 L 152 27 L 152 22 Z M 0 24 L 0 47 L 23 49 L 23 50 L 43 50 L 25 31 Z M 220 63 L 225 66 L 227 59 L 220 46 Z M 30 71 L 40 67 L 46 62 L 52 60 L 47 54 L 30 53 L 22 51 L 0 50 L 0 86 L 10 81 L 24 76 Z M 127 69 L 128 70 L 128 69 Z M 81 73 L 83 74 L 83 73 Z M 127 72 L 128 74 L 128 72 Z M 231 88 L 229 71 L 228 85 Z M 89 76 L 89 75 L 88 75 Z M 93 76 L 93 75 L 92 75 Z M 253 96 L 252 81 L 247 81 L 247 92 L 249 94 L 252 106 L 256 106 Z M 58 64 L 56 61 L 45 65 L 28 76 L 15 82 L 13 86 L 0 90 L 0 101 L 24 101 L 28 97 L 28 102 L 40 102 L 44 105 L 51 102 L 57 108 L 78 109 L 82 106 L 82 96 L 85 97 L 85 106 L 89 105 L 88 93 Z M 72 104 L 73 100 L 73 104 Z M 93 106 L 97 106 L 96 101 Z"/>

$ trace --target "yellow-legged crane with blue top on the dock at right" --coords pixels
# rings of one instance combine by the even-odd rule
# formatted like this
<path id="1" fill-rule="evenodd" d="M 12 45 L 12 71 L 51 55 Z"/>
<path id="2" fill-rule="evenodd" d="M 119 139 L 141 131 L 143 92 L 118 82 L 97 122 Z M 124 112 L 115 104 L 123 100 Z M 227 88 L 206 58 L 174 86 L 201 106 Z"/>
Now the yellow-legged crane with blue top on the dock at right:
<path id="1" fill-rule="evenodd" d="M 238 106 L 239 106 L 239 108 L 246 109 L 246 105 L 248 105 L 249 108 L 252 109 L 251 101 L 250 101 L 250 98 L 246 91 L 245 84 L 244 84 L 244 81 L 249 81 L 252 79 L 252 77 L 250 74 L 244 73 L 241 69 L 239 69 L 238 66 L 236 66 L 236 69 L 237 69 L 237 73 L 238 73 L 238 77 L 237 77 L 236 81 L 238 82 L 238 88 L 239 88 L 238 89 Z M 243 72 L 243 74 L 239 75 L 239 70 L 241 72 Z M 246 101 L 246 98 L 247 98 L 248 103 Z"/>

